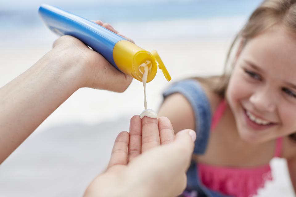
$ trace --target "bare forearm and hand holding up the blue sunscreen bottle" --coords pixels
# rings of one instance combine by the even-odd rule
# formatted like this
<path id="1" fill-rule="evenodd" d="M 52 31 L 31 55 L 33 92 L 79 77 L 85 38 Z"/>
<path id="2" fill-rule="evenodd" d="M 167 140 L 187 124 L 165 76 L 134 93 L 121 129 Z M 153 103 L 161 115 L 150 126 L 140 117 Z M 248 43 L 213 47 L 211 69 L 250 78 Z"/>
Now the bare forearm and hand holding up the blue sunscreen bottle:
<path id="1" fill-rule="evenodd" d="M 131 80 L 80 40 L 59 38 L 31 68 L 0 88 L 0 163 L 80 87 L 123 92 Z"/>

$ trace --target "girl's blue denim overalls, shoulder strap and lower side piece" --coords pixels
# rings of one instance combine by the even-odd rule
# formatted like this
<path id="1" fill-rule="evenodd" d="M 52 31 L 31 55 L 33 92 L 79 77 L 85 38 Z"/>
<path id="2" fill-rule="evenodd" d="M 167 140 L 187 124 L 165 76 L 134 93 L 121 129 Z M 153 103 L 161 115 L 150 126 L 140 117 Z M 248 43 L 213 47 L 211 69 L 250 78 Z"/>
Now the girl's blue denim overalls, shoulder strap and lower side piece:
<path id="1" fill-rule="evenodd" d="M 195 131 L 197 134 L 193 153 L 202 155 L 205 153 L 208 145 L 212 122 L 211 106 L 208 98 L 199 82 L 194 79 L 174 83 L 163 93 L 163 96 L 165 98 L 174 93 L 182 94 L 191 104 L 194 111 Z M 182 195 L 191 197 L 224 196 L 208 189 L 201 183 L 198 174 L 198 165 L 194 161 L 191 162 L 187 171 L 187 188 Z"/>

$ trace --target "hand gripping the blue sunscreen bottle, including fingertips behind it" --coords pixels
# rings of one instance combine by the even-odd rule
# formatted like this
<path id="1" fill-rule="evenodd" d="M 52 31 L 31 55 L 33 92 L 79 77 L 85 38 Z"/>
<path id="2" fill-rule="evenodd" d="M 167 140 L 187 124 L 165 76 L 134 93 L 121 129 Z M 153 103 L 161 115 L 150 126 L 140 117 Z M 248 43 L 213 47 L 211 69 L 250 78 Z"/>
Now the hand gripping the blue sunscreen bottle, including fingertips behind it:
<path id="1" fill-rule="evenodd" d="M 119 34 L 108 23 L 103 23 L 100 20 L 93 22 L 122 36 L 130 42 L 134 42 L 130 38 Z M 132 77 L 118 71 L 101 54 L 91 50 L 79 39 L 72 36 L 65 35 L 58 38 L 53 43 L 53 50 L 58 51 L 60 58 L 68 59 L 67 62 L 69 65 L 65 66 L 79 65 L 77 67 L 79 72 L 76 72 L 79 76 L 73 76 L 73 78 L 79 78 L 82 81 L 81 87 L 123 92 L 132 81 Z"/>

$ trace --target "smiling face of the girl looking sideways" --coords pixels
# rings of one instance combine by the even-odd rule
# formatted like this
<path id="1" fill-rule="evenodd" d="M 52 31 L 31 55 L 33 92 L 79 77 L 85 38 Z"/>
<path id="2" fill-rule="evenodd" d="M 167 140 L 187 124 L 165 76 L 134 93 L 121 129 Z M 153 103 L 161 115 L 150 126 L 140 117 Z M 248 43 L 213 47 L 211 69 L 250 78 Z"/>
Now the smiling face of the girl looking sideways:
<path id="1" fill-rule="evenodd" d="M 248 142 L 296 132 L 296 38 L 278 28 L 250 39 L 238 54 L 226 99 Z"/>

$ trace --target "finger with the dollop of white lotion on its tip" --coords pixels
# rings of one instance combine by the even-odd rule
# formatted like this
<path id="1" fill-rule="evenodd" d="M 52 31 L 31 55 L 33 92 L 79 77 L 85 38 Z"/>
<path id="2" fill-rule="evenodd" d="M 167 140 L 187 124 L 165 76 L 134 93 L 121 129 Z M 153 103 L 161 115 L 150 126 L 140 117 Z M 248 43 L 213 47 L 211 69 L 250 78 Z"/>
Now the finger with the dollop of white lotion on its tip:
<path id="1" fill-rule="evenodd" d="M 142 119 L 142 153 L 160 145 L 157 119 L 144 116 Z"/>

